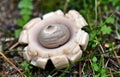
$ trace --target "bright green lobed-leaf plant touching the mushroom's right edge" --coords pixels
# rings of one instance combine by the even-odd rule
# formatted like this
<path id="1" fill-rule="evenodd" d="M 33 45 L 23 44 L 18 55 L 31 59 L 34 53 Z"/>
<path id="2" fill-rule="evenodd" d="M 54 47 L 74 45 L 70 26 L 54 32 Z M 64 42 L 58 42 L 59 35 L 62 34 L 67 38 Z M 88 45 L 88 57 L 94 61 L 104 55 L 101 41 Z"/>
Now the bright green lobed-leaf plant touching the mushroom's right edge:
<path id="1" fill-rule="evenodd" d="M 100 42 L 105 41 L 106 39 L 102 38 L 103 36 L 109 36 L 111 32 L 113 31 L 111 29 L 111 24 L 114 25 L 115 19 L 111 15 L 103 22 L 100 22 L 100 25 L 93 25 L 90 28 L 87 28 L 86 31 L 89 33 L 90 41 L 88 44 L 88 49 L 95 48 L 97 45 L 99 45 Z"/>

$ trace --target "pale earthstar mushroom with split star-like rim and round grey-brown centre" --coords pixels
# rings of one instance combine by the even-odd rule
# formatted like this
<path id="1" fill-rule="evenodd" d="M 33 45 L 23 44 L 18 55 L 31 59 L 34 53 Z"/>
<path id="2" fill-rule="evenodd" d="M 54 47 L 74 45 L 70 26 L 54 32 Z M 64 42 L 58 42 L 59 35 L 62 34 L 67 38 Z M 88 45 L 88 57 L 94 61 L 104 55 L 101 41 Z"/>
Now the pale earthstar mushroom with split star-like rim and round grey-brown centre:
<path id="1" fill-rule="evenodd" d="M 28 44 L 23 57 L 34 66 L 45 69 L 51 60 L 57 69 L 65 68 L 82 56 L 89 35 L 81 28 L 87 23 L 75 10 L 64 14 L 61 10 L 34 18 L 23 28 L 19 43 Z"/>

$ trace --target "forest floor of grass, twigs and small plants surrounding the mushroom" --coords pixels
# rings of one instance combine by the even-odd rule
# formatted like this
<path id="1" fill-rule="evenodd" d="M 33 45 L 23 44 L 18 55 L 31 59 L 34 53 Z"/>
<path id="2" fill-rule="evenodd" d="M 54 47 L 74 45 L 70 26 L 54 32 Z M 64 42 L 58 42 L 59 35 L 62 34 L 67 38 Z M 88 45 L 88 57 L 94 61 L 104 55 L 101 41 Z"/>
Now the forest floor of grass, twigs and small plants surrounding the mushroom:
<path id="1" fill-rule="evenodd" d="M 59 6 L 64 4 L 62 7 L 64 11 L 83 8 L 78 11 L 89 24 L 84 30 L 90 36 L 87 50 L 83 52 L 80 61 L 61 70 L 51 68 L 53 66 L 51 62 L 48 64 L 48 67 L 51 65 L 51 69 L 45 70 L 29 64 L 20 52 L 24 46 L 15 46 L 18 42 L 15 31 L 21 28 L 17 23 L 21 17 L 19 1 L 0 0 L 0 77 L 120 77 L 120 10 L 114 8 L 117 7 L 119 0 L 116 0 L 115 4 L 106 1 L 98 1 L 95 4 L 97 0 L 88 2 L 78 0 L 78 3 L 73 0 L 69 3 L 60 1 Z M 37 7 L 40 0 L 33 1 L 34 10 L 30 19 L 61 8 L 55 7 L 59 1 L 49 2 L 50 5 L 46 2 L 47 4 Z M 81 8 L 78 6 L 79 3 L 83 3 Z M 50 10 L 44 11 L 51 5 L 52 9 L 50 7 Z"/>

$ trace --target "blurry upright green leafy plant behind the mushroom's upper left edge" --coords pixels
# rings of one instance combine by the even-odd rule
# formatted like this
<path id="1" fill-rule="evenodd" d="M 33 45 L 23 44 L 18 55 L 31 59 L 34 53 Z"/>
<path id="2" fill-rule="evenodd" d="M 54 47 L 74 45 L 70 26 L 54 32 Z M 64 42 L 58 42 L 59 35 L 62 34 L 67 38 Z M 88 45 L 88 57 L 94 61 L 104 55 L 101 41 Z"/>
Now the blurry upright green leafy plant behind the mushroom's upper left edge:
<path id="1" fill-rule="evenodd" d="M 18 4 L 20 9 L 21 18 L 17 20 L 20 29 L 15 30 L 15 37 L 18 38 L 23 26 L 28 22 L 33 10 L 32 0 L 20 0 Z"/>

